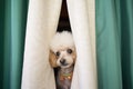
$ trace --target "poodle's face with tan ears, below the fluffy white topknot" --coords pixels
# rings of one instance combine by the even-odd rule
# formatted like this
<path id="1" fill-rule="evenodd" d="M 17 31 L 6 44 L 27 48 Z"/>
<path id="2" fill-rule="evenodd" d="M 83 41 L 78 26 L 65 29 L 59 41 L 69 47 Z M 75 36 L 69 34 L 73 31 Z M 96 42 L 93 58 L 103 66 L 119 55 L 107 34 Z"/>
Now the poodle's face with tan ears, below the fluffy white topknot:
<path id="1" fill-rule="evenodd" d="M 74 65 L 76 59 L 75 48 L 60 47 L 58 50 L 50 52 L 50 63 L 53 68 L 69 68 Z"/>

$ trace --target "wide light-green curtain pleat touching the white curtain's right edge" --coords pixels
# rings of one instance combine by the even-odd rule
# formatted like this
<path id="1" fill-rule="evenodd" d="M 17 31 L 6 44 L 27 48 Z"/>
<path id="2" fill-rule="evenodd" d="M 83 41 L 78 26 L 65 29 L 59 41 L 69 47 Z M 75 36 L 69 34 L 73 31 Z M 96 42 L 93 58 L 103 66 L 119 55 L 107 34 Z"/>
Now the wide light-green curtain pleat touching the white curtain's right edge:
<path id="1" fill-rule="evenodd" d="M 99 89 L 122 89 L 119 0 L 95 0 Z"/>

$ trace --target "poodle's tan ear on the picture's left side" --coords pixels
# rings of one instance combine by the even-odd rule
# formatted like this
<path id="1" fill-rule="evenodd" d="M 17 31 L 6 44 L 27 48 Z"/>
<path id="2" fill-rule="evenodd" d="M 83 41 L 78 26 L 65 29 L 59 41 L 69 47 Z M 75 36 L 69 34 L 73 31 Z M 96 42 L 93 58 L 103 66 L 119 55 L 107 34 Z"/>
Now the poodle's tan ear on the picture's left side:
<path id="1" fill-rule="evenodd" d="M 49 61 L 50 61 L 51 67 L 53 67 L 53 68 L 58 67 L 57 66 L 57 57 L 55 57 L 55 53 L 52 50 L 50 50 Z"/>

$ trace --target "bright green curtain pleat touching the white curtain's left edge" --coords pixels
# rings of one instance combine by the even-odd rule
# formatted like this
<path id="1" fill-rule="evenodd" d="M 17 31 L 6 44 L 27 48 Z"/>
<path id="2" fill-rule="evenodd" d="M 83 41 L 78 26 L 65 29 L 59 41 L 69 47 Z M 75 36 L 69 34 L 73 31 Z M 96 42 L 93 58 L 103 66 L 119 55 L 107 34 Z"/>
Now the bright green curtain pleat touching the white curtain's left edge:
<path id="1" fill-rule="evenodd" d="M 20 89 L 24 34 L 27 22 L 27 0 L 11 0 L 11 60 L 10 60 L 10 89 Z M 23 14 L 24 13 L 24 14 Z"/>

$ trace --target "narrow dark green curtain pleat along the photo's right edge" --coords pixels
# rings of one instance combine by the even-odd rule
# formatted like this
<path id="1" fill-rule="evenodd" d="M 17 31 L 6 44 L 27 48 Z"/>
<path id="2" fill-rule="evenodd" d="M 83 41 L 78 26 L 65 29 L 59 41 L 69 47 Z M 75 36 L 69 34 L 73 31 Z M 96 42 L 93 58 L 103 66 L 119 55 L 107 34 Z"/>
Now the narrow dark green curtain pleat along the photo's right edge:
<path id="1" fill-rule="evenodd" d="M 133 0 L 121 0 L 123 89 L 133 89 Z"/>

